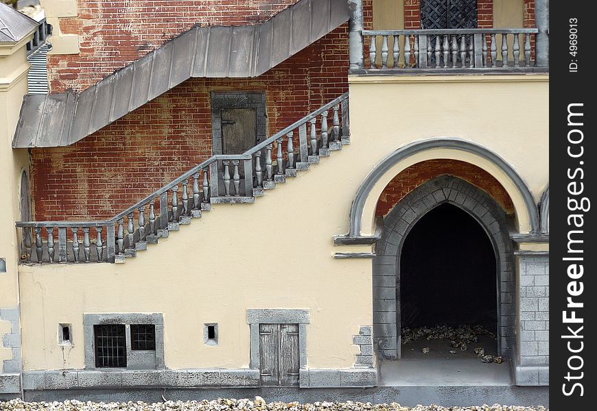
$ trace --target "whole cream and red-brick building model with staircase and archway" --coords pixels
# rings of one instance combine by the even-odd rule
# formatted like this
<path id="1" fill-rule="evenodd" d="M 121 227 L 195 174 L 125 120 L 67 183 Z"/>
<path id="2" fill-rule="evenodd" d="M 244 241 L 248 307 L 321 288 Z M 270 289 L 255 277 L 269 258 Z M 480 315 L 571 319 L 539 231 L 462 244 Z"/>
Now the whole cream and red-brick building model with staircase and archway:
<path id="1" fill-rule="evenodd" d="M 0 4 L 0 398 L 549 384 L 547 1 L 163 3 Z"/>

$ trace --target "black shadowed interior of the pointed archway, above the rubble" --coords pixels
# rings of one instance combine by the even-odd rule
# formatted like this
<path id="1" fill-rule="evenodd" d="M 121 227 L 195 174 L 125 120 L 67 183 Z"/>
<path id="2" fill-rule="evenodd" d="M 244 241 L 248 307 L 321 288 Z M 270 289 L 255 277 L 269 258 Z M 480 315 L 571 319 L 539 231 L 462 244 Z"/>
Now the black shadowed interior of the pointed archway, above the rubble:
<path id="1" fill-rule="evenodd" d="M 442 204 L 421 217 L 400 264 L 402 327 L 468 324 L 496 332 L 495 253 L 467 212 Z"/>

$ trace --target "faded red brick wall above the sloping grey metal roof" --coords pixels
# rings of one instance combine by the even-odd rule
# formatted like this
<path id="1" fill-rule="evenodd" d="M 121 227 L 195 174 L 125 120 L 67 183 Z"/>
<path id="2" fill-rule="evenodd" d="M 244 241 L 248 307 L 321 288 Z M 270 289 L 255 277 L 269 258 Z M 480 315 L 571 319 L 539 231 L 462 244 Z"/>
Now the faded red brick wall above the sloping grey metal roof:
<path id="1" fill-rule="evenodd" d="M 49 55 L 51 92 L 82 91 L 196 23 L 252 25 L 297 0 L 78 0 L 60 31 L 80 36 L 80 53 Z"/>

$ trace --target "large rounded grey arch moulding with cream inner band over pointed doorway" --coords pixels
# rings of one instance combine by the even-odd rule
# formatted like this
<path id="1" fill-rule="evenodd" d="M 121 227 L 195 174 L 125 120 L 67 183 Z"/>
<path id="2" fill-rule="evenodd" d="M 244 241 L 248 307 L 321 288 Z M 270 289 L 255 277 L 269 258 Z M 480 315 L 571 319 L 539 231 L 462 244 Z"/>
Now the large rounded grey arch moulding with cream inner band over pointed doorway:
<path id="1" fill-rule="evenodd" d="M 377 164 L 375 169 L 367 175 L 358 189 L 351 206 L 349 217 L 350 229 L 347 238 L 362 238 L 368 236 L 367 234 L 362 235 L 363 218 L 366 203 L 368 203 L 368 201 L 373 201 L 373 197 L 375 197 L 375 203 L 377 203 L 377 195 L 372 195 L 376 184 L 385 177 L 388 177 L 386 174 L 393 171 L 395 165 L 400 162 L 417 157 L 421 157 L 418 158 L 417 161 L 427 160 L 428 158 L 439 158 L 437 155 L 435 155 L 435 157 L 430 155 L 428 158 L 423 158 L 423 154 L 432 153 L 434 150 L 443 150 L 441 151 L 441 154 L 438 153 L 437 155 L 447 155 L 445 158 L 462 160 L 462 158 L 458 158 L 457 155 L 454 155 L 455 153 L 460 153 L 469 156 L 472 155 L 473 158 L 491 164 L 496 173 L 499 172 L 502 175 L 502 177 L 498 177 L 498 175 L 494 174 L 494 176 L 498 178 L 498 181 L 500 181 L 500 184 L 506 187 L 508 194 L 514 201 L 517 218 L 524 215 L 524 218 L 528 221 L 528 227 L 531 234 L 539 233 L 539 212 L 537 210 L 535 199 L 532 197 L 532 193 L 528 189 L 528 186 L 526 186 L 524 180 L 518 175 L 513 167 L 506 162 L 506 160 L 486 147 L 482 147 L 476 143 L 461 138 L 430 138 L 428 140 L 412 142 L 409 145 L 397 149 L 386 159 Z M 388 181 L 397 173 L 391 174 L 392 175 L 388 177 Z M 383 186 L 385 186 L 385 184 Z M 377 192 L 374 194 L 377 194 Z M 371 222 L 373 221 L 374 219 L 372 217 Z M 371 231 L 373 232 L 373 230 Z"/>

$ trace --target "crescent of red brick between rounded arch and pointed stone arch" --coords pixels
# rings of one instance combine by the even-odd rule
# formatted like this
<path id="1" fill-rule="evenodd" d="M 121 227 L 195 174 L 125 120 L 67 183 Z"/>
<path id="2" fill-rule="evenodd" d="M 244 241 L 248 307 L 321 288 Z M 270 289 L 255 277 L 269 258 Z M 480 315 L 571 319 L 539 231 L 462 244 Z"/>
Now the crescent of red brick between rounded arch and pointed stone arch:
<path id="1" fill-rule="evenodd" d="M 487 171 L 467 162 L 438 159 L 413 164 L 394 177 L 379 196 L 375 215 L 385 216 L 414 188 L 444 174 L 453 175 L 477 186 L 498 201 L 507 214 L 514 214 L 514 206 L 508 192 Z"/>

